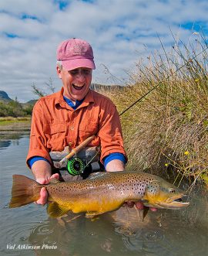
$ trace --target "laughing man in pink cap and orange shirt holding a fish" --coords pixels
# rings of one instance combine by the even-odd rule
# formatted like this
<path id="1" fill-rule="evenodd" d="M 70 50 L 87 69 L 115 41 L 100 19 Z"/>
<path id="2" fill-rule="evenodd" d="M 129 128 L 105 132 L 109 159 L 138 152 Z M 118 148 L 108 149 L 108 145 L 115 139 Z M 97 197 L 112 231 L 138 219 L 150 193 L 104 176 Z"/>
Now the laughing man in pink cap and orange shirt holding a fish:
<path id="1" fill-rule="evenodd" d="M 60 178 L 53 171 L 52 152 L 61 153 L 69 145 L 75 148 L 91 135 L 96 138 L 89 147 L 100 148 L 99 162 L 107 172 L 125 168 L 126 153 L 116 106 L 89 88 L 92 70 L 96 69 L 93 59 L 92 47 L 82 39 L 65 40 L 57 49 L 56 70 L 62 90 L 42 97 L 32 113 L 27 164 L 41 184 Z M 90 172 L 88 169 L 87 175 Z M 42 189 L 37 203 L 46 200 L 46 190 Z"/>

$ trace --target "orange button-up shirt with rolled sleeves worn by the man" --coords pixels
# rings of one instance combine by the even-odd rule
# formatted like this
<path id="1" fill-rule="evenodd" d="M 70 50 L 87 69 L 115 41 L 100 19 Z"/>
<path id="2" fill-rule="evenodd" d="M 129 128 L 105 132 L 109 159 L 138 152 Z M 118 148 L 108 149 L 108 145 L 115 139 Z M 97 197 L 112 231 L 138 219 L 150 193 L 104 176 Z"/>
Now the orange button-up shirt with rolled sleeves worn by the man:
<path id="1" fill-rule="evenodd" d="M 52 162 L 49 152 L 62 151 L 69 144 L 75 148 L 91 135 L 96 138 L 89 146 L 101 146 L 101 161 L 114 152 L 126 156 L 119 114 L 112 101 L 89 90 L 82 104 L 74 110 L 65 102 L 62 88 L 42 97 L 33 108 L 26 161 L 42 156 Z"/>

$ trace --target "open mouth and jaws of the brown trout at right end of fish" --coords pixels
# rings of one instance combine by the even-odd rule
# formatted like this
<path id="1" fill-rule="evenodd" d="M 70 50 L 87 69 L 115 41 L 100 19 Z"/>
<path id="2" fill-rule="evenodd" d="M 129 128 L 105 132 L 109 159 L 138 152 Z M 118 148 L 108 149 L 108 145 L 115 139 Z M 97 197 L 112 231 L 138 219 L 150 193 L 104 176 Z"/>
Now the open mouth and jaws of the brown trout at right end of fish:
<path id="1" fill-rule="evenodd" d="M 184 194 L 169 197 L 166 202 L 159 202 L 159 206 L 166 209 L 180 209 L 190 205 L 190 202 L 183 202 Z"/>

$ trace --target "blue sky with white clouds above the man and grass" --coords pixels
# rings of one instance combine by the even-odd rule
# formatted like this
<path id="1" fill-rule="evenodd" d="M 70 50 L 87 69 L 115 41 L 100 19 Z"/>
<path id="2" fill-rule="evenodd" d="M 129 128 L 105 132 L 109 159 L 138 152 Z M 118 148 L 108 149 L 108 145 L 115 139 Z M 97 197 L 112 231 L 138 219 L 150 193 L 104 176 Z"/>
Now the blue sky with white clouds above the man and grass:
<path id="1" fill-rule="evenodd" d="M 125 84 L 139 60 L 167 51 L 173 35 L 184 43 L 208 36 L 208 3 L 199 0 L 7 0 L 0 2 L 0 90 L 29 101 L 32 84 L 52 77 L 56 90 L 55 52 L 62 40 L 77 37 L 92 45 L 93 82 Z M 159 36 L 159 38 L 158 38 Z M 107 69 L 106 69 L 107 67 Z M 117 77 L 113 80 L 109 72 Z"/>

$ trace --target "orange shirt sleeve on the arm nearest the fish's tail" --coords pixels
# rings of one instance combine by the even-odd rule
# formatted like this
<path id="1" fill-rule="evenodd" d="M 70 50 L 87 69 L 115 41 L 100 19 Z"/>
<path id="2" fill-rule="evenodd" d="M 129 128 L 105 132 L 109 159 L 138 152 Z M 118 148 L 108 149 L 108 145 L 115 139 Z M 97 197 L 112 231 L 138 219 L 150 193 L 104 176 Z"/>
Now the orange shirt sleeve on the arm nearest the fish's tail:
<path id="1" fill-rule="evenodd" d="M 42 104 L 41 101 L 38 101 L 32 111 L 29 152 L 26 158 L 26 163 L 28 166 L 28 161 L 33 156 L 42 156 L 52 163 L 46 145 L 46 137 L 43 131 Z"/>

